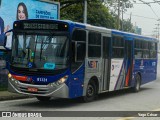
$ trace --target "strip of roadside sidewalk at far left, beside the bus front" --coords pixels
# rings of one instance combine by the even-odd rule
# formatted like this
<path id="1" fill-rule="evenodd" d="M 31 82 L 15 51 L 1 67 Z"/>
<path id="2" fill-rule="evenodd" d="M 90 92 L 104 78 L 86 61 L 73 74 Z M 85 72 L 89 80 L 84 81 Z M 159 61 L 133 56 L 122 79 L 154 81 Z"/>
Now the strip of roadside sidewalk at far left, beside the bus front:
<path id="1" fill-rule="evenodd" d="M 0 91 L 0 101 L 13 100 L 13 99 L 23 99 L 23 98 L 29 98 L 29 97 L 31 97 L 31 96 L 11 93 L 8 91 Z"/>

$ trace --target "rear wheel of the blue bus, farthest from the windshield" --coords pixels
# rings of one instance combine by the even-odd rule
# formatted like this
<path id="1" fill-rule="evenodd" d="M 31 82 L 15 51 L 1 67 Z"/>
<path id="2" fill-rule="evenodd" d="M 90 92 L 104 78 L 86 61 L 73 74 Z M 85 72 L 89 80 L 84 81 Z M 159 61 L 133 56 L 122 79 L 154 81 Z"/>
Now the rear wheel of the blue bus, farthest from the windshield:
<path id="1" fill-rule="evenodd" d="M 141 77 L 139 74 L 136 74 L 135 76 L 135 85 L 132 88 L 133 92 L 139 92 L 140 91 L 140 86 L 141 86 Z"/>

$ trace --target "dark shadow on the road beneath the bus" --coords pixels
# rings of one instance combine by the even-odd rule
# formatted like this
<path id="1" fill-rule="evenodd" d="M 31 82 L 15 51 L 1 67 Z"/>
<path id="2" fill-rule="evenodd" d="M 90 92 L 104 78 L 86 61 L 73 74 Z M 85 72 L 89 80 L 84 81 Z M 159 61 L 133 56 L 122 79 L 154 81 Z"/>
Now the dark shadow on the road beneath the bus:
<path id="1" fill-rule="evenodd" d="M 141 92 L 146 92 L 148 90 L 150 90 L 152 88 L 141 88 Z M 139 94 L 139 93 L 133 93 L 130 89 L 126 89 L 126 90 L 119 90 L 119 91 L 114 91 L 114 92 L 108 92 L 108 93 L 103 93 L 103 94 L 100 94 L 98 99 L 91 102 L 91 103 L 83 103 L 82 99 L 81 98 L 76 98 L 76 99 L 51 99 L 50 101 L 47 101 L 47 102 L 41 102 L 41 101 L 38 101 L 35 99 L 35 101 L 31 101 L 31 102 L 28 102 L 28 103 L 21 103 L 21 104 L 18 104 L 18 105 L 15 105 L 16 107 L 17 106 L 23 106 L 23 107 L 34 107 L 34 108 L 39 108 L 40 110 L 41 109 L 51 109 L 51 108 L 54 108 L 54 109 L 61 109 L 61 108 L 70 108 L 70 107 L 73 107 L 73 106 L 81 106 L 83 104 L 95 104 L 96 102 L 100 102 L 102 100 L 106 100 L 107 102 L 107 99 L 113 99 L 113 98 L 117 98 L 117 97 L 122 97 L 122 96 L 126 96 L 126 95 L 129 95 L 129 94 Z"/>

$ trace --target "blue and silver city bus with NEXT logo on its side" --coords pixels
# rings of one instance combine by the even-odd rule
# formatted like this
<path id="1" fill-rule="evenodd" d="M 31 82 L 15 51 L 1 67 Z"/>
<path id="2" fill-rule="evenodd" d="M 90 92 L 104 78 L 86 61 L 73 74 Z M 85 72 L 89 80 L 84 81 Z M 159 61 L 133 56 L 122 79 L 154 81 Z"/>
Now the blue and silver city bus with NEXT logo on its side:
<path id="1" fill-rule="evenodd" d="M 156 80 L 151 37 L 72 21 L 30 19 L 13 24 L 8 90 L 40 101 L 81 97 Z"/>

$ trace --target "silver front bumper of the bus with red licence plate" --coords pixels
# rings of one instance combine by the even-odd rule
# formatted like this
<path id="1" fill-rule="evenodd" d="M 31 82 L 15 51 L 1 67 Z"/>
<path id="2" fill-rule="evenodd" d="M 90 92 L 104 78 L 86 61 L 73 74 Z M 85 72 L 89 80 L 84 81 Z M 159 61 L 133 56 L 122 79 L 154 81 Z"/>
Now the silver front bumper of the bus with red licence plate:
<path id="1" fill-rule="evenodd" d="M 34 85 L 22 83 L 18 80 L 8 80 L 8 91 L 24 95 L 48 96 L 56 98 L 69 98 L 69 88 L 63 83 L 62 85 Z"/>

